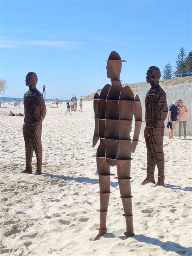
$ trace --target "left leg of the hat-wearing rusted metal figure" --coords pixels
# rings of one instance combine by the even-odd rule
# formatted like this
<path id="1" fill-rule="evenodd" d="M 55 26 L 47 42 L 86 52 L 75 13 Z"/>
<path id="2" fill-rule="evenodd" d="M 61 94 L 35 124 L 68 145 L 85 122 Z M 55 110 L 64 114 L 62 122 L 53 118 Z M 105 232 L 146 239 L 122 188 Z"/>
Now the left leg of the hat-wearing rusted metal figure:
<path id="1" fill-rule="evenodd" d="M 95 237 L 94 241 L 97 240 L 101 235 L 107 233 L 106 219 L 107 219 L 107 209 L 109 205 L 109 195 L 110 195 L 110 166 L 107 164 L 105 158 L 97 157 L 97 169 L 99 175 L 99 188 L 100 191 L 100 227 L 96 228 L 99 230 L 98 235 Z"/>

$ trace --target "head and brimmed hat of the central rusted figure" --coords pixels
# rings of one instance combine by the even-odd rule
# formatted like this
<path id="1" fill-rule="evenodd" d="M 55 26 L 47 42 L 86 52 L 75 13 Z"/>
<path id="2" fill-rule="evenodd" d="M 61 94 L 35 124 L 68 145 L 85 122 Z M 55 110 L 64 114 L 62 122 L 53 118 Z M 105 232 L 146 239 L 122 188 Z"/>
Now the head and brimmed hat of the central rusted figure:
<path id="1" fill-rule="evenodd" d="M 120 73 L 122 70 L 122 62 L 126 60 L 122 60 L 120 55 L 116 51 L 111 51 L 109 58 L 107 60 L 107 77 L 113 80 L 120 79 Z"/>

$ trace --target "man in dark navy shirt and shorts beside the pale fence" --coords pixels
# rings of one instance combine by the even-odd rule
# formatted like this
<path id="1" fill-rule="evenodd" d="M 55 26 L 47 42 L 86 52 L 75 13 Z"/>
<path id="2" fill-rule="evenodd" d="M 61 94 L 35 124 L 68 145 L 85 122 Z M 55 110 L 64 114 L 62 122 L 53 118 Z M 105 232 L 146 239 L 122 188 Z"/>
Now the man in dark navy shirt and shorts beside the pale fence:
<path id="1" fill-rule="evenodd" d="M 175 129 L 175 124 L 177 121 L 177 115 L 178 115 L 178 109 L 179 106 L 179 100 L 175 100 L 173 104 L 169 106 L 168 109 L 168 126 L 170 126 L 169 129 L 169 139 L 175 139 L 173 138 L 173 130 Z"/>

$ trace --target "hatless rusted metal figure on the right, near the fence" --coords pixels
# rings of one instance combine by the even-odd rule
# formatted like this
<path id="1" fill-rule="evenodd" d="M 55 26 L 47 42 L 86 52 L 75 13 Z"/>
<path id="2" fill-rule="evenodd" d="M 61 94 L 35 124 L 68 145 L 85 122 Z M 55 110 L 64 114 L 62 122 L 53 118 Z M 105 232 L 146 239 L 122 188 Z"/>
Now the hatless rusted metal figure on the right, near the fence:
<path id="1" fill-rule="evenodd" d="M 164 185 L 164 152 L 163 135 L 164 121 L 167 116 L 166 93 L 159 85 L 161 77 L 160 69 L 151 66 L 147 70 L 147 83 L 151 88 L 145 97 L 145 143 L 147 147 L 147 177 L 141 183 L 145 185 L 149 182 L 155 183 L 155 166 L 158 168 L 158 182 L 156 186 Z"/>

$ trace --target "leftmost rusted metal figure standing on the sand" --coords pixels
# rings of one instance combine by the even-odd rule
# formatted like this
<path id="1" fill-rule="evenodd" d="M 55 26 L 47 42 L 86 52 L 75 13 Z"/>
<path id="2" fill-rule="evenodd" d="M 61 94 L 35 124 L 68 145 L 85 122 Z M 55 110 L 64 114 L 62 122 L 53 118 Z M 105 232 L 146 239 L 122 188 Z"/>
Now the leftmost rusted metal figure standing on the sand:
<path id="1" fill-rule="evenodd" d="M 41 130 L 42 121 L 46 115 L 45 101 L 43 94 L 36 89 L 37 75 L 29 72 L 26 75 L 26 85 L 29 90 L 24 94 L 24 111 L 25 119 L 23 124 L 23 137 L 26 147 L 26 169 L 21 173 L 32 173 L 32 156 L 33 151 L 36 154 L 36 172 L 41 174 L 42 165 L 42 145 Z"/>

